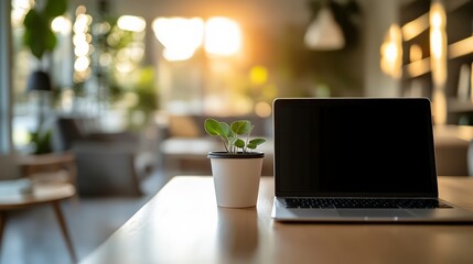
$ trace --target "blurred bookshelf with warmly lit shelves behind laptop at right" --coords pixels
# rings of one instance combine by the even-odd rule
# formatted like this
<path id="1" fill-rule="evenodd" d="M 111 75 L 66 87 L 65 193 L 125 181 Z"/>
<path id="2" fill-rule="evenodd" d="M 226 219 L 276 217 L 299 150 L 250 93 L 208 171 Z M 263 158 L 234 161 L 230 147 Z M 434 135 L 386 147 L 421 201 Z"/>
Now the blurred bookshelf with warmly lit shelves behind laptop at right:
<path id="1" fill-rule="evenodd" d="M 432 99 L 430 57 L 430 0 L 401 6 L 402 95 Z M 447 123 L 473 124 L 473 0 L 442 1 L 447 25 Z M 409 30 L 411 28 L 411 30 Z M 412 30 L 412 29 L 417 29 Z M 417 55 L 416 55 L 417 53 Z"/>

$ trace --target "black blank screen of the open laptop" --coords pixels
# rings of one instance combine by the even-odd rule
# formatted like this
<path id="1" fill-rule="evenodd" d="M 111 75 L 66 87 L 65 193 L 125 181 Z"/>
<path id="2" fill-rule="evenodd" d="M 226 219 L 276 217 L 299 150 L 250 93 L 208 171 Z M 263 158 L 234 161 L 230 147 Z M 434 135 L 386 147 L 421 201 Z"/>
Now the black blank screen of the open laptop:
<path id="1" fill-rule="evenodd" d="M 277 196 L 437 197 L 430 101 L 276 99 Z"/>

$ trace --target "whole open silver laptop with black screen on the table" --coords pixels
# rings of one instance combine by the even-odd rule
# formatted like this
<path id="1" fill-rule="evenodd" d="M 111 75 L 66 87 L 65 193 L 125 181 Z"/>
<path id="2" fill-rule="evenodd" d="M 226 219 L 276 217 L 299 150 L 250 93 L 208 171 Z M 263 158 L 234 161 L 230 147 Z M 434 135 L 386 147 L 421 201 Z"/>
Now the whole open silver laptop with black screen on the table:
<path id="1" fill-rule="evenodd" d="M 277 221 L 472 222 L 438 198 L 427 98 L 273 101 Z"/>

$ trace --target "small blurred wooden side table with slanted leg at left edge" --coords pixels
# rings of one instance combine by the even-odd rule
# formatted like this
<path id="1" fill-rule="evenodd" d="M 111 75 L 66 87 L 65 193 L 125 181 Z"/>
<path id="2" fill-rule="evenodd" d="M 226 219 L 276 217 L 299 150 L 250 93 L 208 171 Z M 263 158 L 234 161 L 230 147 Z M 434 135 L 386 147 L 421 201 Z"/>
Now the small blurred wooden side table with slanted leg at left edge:
<path id="1" fill-rule="evenodd" d="M 51 205 L 65 239 L 71 257 L 77 261 L 66 221 L 61 209 L 61 201 L 75 196 L 75 187 L 72 184 L 43 184 L 34 185 L 31 194 L 0 194 L 0 249 L 2 234 L 8 220 L 8 211 L 25 209 L 29 207 Z M 1 251 L 0 251 L 1 252 Z"/>

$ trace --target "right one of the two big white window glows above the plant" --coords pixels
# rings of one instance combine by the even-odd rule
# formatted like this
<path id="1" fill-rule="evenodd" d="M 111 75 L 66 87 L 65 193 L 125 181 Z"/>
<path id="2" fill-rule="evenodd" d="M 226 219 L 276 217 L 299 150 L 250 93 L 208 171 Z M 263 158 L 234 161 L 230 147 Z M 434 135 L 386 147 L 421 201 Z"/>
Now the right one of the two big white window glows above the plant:
<path id="1" fill-rule="evenodd" d="M 241 48 L 239 25 L 227 18 L 211 18 L 205 24 L 205 51 L 212 55 L 229 56 Z"/>

